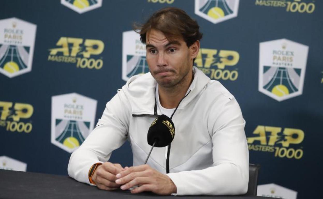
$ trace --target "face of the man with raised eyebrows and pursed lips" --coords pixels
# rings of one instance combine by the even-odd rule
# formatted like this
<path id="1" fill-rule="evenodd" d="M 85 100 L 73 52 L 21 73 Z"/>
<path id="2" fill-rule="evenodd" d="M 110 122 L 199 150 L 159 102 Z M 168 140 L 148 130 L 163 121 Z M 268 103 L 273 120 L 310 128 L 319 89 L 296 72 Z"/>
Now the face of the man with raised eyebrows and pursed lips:
<path id="1" fill-rule="evenodd" d="M 182 38 L 169 41 L 161 31 L 151 29 L 146 42 L 149 70 L 160 86 L 175 86 L 192 74 L 194 57 Z"/>

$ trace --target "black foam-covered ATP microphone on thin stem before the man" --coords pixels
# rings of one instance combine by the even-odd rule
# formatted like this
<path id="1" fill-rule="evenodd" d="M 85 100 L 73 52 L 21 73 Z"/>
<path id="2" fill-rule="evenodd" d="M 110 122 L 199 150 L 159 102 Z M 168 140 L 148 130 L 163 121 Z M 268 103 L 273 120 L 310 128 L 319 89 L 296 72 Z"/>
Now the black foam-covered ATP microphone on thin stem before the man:
<path id="1" fill-rule="evenodd" d="M 151 154 L 154 146 L 156 147 L 165 147 L 171 144 L 175 136 L 175 125 L 172 120 L 166 115 L 162 114 L 157 117 L 150 125 L 147 141 L 151 145 L 150 152 L 146 158 L 145 164 L 148 161 L 148 158 Z"/>

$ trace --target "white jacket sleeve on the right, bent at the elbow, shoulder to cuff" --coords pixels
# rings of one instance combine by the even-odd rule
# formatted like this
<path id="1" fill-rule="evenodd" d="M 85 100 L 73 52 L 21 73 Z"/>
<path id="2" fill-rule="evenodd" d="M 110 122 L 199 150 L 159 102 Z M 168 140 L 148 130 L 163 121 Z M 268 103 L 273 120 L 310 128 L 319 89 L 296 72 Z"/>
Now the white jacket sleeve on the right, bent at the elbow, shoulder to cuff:
<path id="1" fill-rule="evenodd" d="M 247 192 L 249 154 L 245 120 L 233 96 L 224 98 L 210 108 L 215 114 L 207 116 L 208 129 L 212 132 L 213 166 L 167 174 L 177 187 L 177 193 L 173 195 L 236 195 Z"/>

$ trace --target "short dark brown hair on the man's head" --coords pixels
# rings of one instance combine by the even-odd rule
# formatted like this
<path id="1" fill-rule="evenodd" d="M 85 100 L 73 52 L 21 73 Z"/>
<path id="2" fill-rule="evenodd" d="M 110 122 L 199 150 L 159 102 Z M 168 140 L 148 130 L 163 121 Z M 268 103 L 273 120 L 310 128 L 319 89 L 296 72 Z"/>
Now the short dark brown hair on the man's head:
<path id="1" fill-rule="evenodd" d="M 146 35 L 151 29 L 161 31 L 166 38 L 183 38 L 187 47 L 202 39 L 200 26 L 185 11 L 166 7 L 155 12 L 145 24 L 133 24 L 134 31 L 140 34 L 140 41 L 146 44 Z"/>

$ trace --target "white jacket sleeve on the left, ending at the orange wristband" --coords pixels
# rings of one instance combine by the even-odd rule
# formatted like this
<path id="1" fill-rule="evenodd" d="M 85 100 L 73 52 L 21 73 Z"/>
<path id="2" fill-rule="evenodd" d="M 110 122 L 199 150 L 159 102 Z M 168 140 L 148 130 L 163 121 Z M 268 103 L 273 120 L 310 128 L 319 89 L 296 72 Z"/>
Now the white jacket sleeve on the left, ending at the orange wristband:
<path id="1" fill-rule="evenodd" d="M 106 104 L 98 124 L 75 150 L 68 163 L 68 175 L 79 182 L 88 183 L 88 172 L 95 163 L 109 160 L 113 150 L 127 139 L 130 106 L 122 90 Z M 92 185 L 92 184 L 91 184 Z"/>

